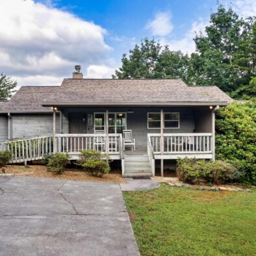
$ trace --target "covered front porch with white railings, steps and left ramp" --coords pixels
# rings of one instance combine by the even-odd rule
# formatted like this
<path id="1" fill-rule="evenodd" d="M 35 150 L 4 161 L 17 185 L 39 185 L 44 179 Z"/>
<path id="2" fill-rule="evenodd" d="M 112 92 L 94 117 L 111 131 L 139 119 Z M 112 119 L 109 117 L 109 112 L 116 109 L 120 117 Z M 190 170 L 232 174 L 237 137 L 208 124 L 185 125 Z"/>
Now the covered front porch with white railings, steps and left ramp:
<path id="1" fill-rule="evenodd" d="M 53 133 L 1 142 L 11 162 L 40 160 L 49 153 L 68 153 L 72 160 L 94 149 L 121 160 L 124 176 L 155 175 L 155 160 L 196 157 L 214 160 L 214 106 L 53 107 Z M 59 120 L 57 120 L 59 118 Z M 57 122 L 58 121 L 58 122 Z M 59 126 L 58 126 L 59 125 Z M 135 150 L 125 145 L 130 130 Z"/>

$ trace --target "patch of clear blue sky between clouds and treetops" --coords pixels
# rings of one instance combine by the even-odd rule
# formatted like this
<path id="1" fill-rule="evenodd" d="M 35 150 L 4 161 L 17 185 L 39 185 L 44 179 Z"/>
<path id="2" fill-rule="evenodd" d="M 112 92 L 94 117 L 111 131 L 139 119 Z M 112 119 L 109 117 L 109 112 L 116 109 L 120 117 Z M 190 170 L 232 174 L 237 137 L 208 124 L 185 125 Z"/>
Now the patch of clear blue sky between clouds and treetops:
<path id="1" fill-rule="evenodd" d="M 107 29 L 105 42 L 114 48 L 111 56 L 118 64 L 122 54 L 127 53 L 135 43 L 140 43 L 141 38 L 159 39 L 158 35 L 146 29 L 146 24 L 153 20 L 155 15 L 169 14 L 173 30 L 167 38 L 181 40 L 191 29 L 192 22 L 206 22 L 211 10 L 216 10 L 216 0 L 64 0 L 51 1 L 51 4 Z"/>

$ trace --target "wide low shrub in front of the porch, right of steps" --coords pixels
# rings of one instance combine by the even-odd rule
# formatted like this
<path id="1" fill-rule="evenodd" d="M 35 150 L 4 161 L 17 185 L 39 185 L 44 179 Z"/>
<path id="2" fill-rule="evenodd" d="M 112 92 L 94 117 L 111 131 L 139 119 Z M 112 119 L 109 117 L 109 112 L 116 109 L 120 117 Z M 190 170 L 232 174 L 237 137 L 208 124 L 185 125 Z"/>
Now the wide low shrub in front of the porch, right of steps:
<path id="1" fill-rule="evenodd" d="M 177 175 L 180 181 L 198 184 L 199 182 L 222 184 L 226 181 L 240 179 L 240 173 L 235 166 L 222 160 L 178 159 Z"/>

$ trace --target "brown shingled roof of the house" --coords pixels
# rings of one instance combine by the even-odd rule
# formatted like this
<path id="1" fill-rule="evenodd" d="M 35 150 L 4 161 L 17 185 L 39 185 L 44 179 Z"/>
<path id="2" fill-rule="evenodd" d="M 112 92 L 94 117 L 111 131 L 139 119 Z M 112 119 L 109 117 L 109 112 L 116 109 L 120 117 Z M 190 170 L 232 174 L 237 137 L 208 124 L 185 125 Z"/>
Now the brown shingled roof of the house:
<path id="1" fill-rule="evenodd" d="M 187 86 L 181 79 L 64 79 L 61 86 L 24 86 L 0 112 L 49 112 L 50 106 L 229 105 L 217 86 Z M 43 107 L 43 106 L 44 107 Z"/>

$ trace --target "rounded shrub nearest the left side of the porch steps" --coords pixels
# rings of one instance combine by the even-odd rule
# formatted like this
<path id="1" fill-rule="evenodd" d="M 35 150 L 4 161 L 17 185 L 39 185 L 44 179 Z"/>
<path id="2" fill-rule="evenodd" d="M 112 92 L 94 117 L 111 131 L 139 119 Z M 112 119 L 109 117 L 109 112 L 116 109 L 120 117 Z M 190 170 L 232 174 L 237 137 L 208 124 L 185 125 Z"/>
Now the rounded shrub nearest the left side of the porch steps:
<path id="1" fill-rule="evenodd" d="M 102 177 L 105 173 L 109 173 L 109 160 L 103 160 L 107 155 L 101 154 L 99 151 L 82 150 L 77 164 L 82 166 L 84 170 L 94 177 Z"/>

